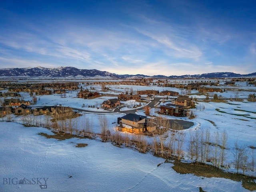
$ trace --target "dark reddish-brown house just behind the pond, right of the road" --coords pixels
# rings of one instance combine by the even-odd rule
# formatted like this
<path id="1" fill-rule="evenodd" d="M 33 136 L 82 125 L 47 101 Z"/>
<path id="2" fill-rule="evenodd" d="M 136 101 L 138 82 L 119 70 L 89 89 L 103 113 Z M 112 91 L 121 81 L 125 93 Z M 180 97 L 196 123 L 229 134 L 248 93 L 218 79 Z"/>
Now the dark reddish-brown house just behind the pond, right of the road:
<path id="1" fill-rule="evenodd" d="M 181 117 L 185 115 L 184 106 L 166 104 L 160 106 L 160 113 L 164 115 Z"/>

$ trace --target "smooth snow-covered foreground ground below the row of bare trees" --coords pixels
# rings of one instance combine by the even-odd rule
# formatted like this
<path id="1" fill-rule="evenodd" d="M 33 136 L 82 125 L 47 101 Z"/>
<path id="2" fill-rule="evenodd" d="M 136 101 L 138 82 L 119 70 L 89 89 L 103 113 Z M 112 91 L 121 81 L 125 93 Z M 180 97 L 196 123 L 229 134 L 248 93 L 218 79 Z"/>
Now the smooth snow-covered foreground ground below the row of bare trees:
<path id="1" fill-rule="evenodd" d="M 118 148 L 110 142 L 72 138 L 47 139 L 50 130 L 0 123 L 0 172 L 3 192 L 199 191 L 243 192 L 241 182 L 178 174 L 152 154 Z M 86 143 L 76 148 L 77 143 Z M 159 164 L 161 164 L 159 166 Z M 10 179 L 9 179 L 10 178 Z M 26 178 L 31 184 L 18 184 Z M 42 178 L 42 179 L 40 179 Z M 40 185 L 47 185 L 41 189 Z"/>

